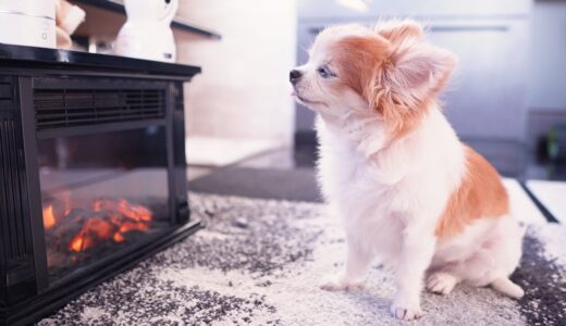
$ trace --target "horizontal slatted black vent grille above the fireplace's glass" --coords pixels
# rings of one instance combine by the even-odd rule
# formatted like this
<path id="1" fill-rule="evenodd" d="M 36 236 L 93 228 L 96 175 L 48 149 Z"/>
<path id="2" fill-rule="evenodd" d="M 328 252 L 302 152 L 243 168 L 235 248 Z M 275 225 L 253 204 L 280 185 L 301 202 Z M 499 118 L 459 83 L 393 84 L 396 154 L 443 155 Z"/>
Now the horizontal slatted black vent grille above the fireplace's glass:
<path id="1" fill-rule="evenodd" d="M 35 89 L 38 130 L 162 118 L 161 89 Z"/>

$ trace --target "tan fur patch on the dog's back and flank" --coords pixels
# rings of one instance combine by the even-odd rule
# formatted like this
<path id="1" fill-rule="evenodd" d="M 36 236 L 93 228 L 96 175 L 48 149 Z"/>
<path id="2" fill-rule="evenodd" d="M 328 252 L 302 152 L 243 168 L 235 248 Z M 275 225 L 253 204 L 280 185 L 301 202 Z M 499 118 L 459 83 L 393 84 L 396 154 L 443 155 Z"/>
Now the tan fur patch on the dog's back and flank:
<path id="1" fill-rule="evenodd" d="M 479 218 L 497 218 L 509 213 L 507 191 L 493 166 L 465 147 L 467 173 L 452 193 L 436 223 L 436 237 L 450 238 Z"/>

